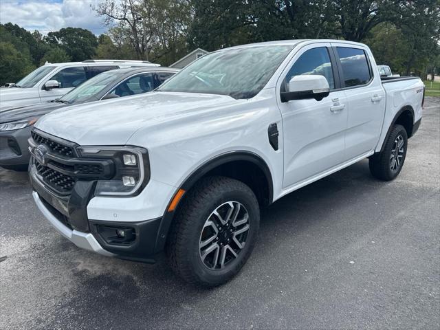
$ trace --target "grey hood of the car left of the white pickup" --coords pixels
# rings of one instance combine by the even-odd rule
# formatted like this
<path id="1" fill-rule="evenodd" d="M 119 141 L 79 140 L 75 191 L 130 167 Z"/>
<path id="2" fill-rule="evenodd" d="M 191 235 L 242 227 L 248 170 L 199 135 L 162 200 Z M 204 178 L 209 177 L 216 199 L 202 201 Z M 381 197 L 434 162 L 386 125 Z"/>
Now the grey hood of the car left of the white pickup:
<path id="1" fill-rule="evenodd" d="M 28 118 L 40 118 L 42 115 L 55 109 L 65 107 L 67 104 L 60 102 L 44 102 L 23 107 L 10 107 L 0 110 L 0 123 L 15 122 Z"/>

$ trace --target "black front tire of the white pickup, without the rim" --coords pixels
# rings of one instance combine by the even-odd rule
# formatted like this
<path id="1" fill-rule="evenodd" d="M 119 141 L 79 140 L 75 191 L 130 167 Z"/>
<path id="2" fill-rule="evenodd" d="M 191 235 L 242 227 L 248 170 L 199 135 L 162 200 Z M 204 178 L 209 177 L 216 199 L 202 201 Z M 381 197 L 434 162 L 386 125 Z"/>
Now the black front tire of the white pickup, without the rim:
<path id="1" fill-rule="evenodd" d="M 249 232 L 236 259 L 221 270 L 210 270 L 199 255 L 201 230 L 210 214 L 227 201 L 241 203 L 249 214 Z M 214 287 L 229 281 L 248 260 L 259 231 L 259 203 L 243 182 L 229 177 L 201 179 L 184 196 L 173 221 L 166 254 L 174 272 L 194 285 Z"/>

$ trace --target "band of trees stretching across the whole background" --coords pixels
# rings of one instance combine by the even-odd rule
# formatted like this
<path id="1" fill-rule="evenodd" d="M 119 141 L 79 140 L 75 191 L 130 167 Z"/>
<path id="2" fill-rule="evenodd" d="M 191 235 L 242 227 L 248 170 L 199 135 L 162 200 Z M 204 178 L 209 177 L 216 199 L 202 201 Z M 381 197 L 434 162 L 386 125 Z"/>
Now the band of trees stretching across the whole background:
<path id="1" fill-rule="evenodd" d="M 43 36 L 0 24 L 0 82 L 14 82 L 45 61 L 170 65 L 197 47 L 212 51 L 283 39 L 360 41 L 377 63 L 399 74 L 424 77 L 440 67 L 439 0 L 97 0 L 94 10 L 109 28 L 98 38 L 80 28 Z"/>

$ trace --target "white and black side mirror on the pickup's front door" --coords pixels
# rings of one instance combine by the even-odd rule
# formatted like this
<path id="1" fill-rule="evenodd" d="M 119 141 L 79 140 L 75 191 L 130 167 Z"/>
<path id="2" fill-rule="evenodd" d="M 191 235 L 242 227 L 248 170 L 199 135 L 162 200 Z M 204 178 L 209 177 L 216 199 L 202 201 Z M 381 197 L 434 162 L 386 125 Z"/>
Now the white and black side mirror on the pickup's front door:
<path id="1" fill-rule="evenodd" d="M 294 76 L 287 86 L 288 91 L 281 92 L 281 102 L 314 98 L 322 100 L 330 94 L 329 83 L 325 76 L 302 74 Z"/>

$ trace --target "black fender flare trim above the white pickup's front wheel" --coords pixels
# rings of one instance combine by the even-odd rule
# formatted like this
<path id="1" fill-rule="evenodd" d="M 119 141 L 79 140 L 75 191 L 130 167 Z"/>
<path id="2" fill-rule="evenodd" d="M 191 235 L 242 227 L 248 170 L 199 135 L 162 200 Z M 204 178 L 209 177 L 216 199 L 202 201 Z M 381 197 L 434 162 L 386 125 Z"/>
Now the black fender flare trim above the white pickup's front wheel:
<path id="1" fill-rule="evenodd" d="M 210 170 L 213 170 L 217 166 L 236 161 L 252 162 L 253 164 L 256 164 L 256 166 L 259 166 L 266 177 L 267 186 L 269 187 L 269 203 L 272 203 L 274 199 L 274 184 L 272 181 L 272 173 L 270 172 L 270 168 L 269 166 L 267 166 L 262 157 L 250 151 L 231 151 L 228 153 L 217 155 L 204 162 L 184 179 L 181 186 L 179 186 L 179 188 L 175 190 L 173 198 L 180 189 L 188 191 L 199 179 L 201 179 L 201 177 L 203 177 L 203 175 L 206 175 L 206 173 L 208 173 Z M 159 230 L 157 231 L 155 253 L 160 252 L 165 247 L 168 232 L 170 230 L 170 225 L 175 215 L 175 211 L 168 212 L 168 208 L 172 200 L 173 199 L 171 199 L 166 206 L 164 216 L 162 217 L 162 221 L 159 225 Z"/>

